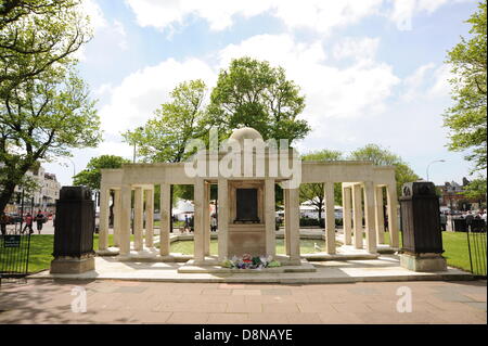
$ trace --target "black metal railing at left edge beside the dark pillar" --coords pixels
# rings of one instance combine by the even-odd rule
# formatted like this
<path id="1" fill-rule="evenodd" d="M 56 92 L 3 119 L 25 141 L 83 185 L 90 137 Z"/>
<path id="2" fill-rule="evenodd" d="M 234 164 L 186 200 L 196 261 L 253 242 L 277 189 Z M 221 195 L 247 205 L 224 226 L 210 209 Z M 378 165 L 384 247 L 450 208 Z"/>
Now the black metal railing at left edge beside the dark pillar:
<path id="1" fill-rule="evenodd" d="M 29 269 L 30 233 L 0 235 L 0 283 L 2 279 L 25 278 Z"/>

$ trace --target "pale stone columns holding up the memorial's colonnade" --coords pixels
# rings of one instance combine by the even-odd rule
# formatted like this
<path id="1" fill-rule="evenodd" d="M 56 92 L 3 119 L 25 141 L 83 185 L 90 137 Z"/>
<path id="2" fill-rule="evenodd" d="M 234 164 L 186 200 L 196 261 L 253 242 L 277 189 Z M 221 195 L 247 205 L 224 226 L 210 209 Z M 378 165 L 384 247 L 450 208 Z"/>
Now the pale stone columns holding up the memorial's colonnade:
<path id="1" fill-rule="evenodd" d="M 229 216 L 229 179 L 208 181 L 197 178 L 194 183 L 194 260 L 205 261 L 210 255 L 210 220 L 209 197 L 210 184 L 218 185 L 218 254 L 219 259 L 228 257 Z M 266 255 L 275 255 L 275 181 L 265 179 L 265 226 Z M 158 254 L 164 259 L 169 257 L 170 231 L 170 183 L 160 183 L 160 231 Z M 133 205 L 132 205 L 133 191 Z M 104 188 L 101 191 L 100 208 L 100 251 L 108 247 L 108 208 L 110 196 L 114 198 L 114 246 L 119 248 L 120 256 L 128 256 L 130 251 L 154 251 L 154 185 L 124 184 L 117 188 Z M 299 261 L 299 189 L 284 189 L 285 254 L 291 261 Z M 384 200 L 386 196 L 387 218 L 389 227 L 389 244 L 399 246 L 397 226 L 397 193 L 395 182 L 374 184 L 372 181 L 343 183 L 343 229 L 346 245 L 365 248 L 376 253 L 377 245 L 384 244 L 385 220 Z M 336 254 L 334 183 L 324 182 L 324 219 L 325 253 Z M 133 208 L 133 242 L 130 246 L 131 210 Z M 145 215 L 145 218 L 144 218 Z M 363 228 L 364 219 L 364 228 Z M 145 220 L 145 228 L 144 228 Z M 363 239 L 363 233 L 365 239 Z"/>

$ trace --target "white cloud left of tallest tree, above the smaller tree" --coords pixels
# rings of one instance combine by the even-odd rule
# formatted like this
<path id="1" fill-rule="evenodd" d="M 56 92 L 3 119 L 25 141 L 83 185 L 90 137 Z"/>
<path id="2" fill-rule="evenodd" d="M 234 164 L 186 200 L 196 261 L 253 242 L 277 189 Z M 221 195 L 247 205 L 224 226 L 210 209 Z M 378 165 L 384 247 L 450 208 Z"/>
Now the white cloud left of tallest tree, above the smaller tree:
<path id="1" fill-rule="evenodd" d="M 112 89 L 108 103 L 100 111 L 102 128 L 111 134 L 143 125 L 154 111 L 168 101 L 168 93 L 181 81 L 201 78 L 214 84 L 216 75 L 207 64 L 189 59 L 168 59 L 138 71 Z"/>

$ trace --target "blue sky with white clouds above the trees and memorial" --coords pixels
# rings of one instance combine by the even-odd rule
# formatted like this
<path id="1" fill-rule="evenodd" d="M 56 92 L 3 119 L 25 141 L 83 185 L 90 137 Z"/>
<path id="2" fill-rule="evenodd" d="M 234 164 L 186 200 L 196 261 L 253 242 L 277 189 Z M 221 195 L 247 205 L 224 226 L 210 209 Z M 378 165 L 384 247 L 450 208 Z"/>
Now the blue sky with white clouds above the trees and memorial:
<path id="1" fill-rule="evenodd" d="M 470 166 L 447 150 L 451 104 L 447 50 L 467 36 L 472 0 L 85 0 L 94 37 L 78 53 L 104 130 L 98 149 L 74 152 L 76 170 L 101 154 L 131 158 L 120 132 L 143 125 L 179 82 L 209 90 L 233 57 L 283 66 L 300 86 L 312 127 L 300 152 L 346 153 L 377 143 L 440 184 Z M 68 161 L 44 165 L 70 183 Z"/>

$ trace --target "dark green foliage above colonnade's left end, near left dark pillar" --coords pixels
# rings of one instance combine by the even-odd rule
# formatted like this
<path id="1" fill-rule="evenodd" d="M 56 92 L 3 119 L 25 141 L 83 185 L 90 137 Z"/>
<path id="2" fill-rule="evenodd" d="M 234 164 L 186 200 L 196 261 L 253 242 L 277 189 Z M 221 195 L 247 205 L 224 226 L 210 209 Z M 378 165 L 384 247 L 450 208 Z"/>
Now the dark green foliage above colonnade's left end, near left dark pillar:
<path id="1" fill-rule="evenodd" d="M 100 190 L 102 180 L 101 169 L 103 168 L 120 168 L 123 164 L 130 161 L 116 155 L 101 155 L 93 157 L 87 164 L 87 167 L 74 177 L 75 185 L 85 185 L 92 190 Z"/>

